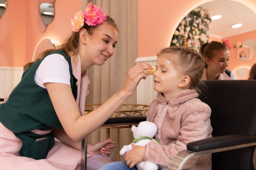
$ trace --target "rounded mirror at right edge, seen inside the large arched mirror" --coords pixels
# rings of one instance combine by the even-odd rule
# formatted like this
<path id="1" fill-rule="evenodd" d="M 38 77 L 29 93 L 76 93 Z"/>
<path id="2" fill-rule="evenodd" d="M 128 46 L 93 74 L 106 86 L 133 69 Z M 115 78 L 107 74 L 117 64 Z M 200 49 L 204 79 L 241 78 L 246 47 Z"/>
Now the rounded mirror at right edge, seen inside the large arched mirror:
<path id="1" fill-rule="evenodd" d="M 237 58 L 243 61 L 250 61 L 255 53 L 256 43 L 253 39 L 248 39 L 242 43 L 242 47 L 237 50 Z"/>

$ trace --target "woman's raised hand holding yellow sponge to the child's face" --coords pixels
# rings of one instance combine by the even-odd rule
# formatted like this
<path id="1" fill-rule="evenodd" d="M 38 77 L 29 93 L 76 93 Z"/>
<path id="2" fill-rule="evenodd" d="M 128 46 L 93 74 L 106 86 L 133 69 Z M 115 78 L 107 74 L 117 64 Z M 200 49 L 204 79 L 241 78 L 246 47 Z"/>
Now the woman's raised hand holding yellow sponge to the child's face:
<path id="1" fill-rule="evenodd" d="M 138 86 L 138 82 L 143 78 L 146 79 L 148 71 L 152 70 L 152 66 L 149 63 L 138 63 L 128 71 L 128 75 L 125 79 L 125 84 L 121 90 L 123 90 L 129 96 L 132 95 Z"/>

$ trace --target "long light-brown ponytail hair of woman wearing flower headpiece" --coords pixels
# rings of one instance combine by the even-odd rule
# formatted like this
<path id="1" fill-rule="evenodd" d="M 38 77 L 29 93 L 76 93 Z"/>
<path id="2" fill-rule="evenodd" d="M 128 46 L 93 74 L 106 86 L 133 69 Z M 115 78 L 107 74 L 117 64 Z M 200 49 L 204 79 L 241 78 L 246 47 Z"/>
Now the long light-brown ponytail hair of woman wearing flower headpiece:
<path id="1" fill-rule="evenodd" d="M 115 20 L 113 20 L 110 16 L 107 15 L 107 19 L 104 20 L 104 23 L 108 23 L 118 30 Z M 92 35 L 94 30 L 96 30 L 98 28 L 98 26 L 99 25 L 91 26 L 91 25 L 87 25 L 86 23 L 84 23 L 84 26 L 82 28 L 85 28 L 87 30 L 88 34 Z M 51 51 L 55 51 L 55 50 L 65 51 L 68 57 L 71 57 L 72 56 L 71 54 L 73 54 L 75 61 L 77 61 L 79 32 L 80 31 L 72 32 L 71 36 L 68 39 L 66 39 L 64 41 L 64 43 L 61 44 L 60 46 L 57 46 L 54 49 L 47 49 L 47 50 L 43 51 L 42 53 L 40 53 L 35 61 L 25 64 L 23 70 L 25 71 L 33 63 L 37 62 L 38 60 L 42 60 L 47 53 L 50 53 Z"/>

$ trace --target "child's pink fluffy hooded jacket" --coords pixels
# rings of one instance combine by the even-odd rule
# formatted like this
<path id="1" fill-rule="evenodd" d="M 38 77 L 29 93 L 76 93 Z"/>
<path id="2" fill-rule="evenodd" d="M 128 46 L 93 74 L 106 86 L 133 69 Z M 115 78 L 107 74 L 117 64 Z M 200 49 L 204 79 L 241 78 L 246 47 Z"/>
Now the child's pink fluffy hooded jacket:
<path id="1" fill-rule="evenodd" d="M 157 125 L 155 137 L 146 145 L 145 160 L 167 168 L 172 157 L 186 150 L 189 142 L 212 137 L 211 109 L 197 99 L 195 90 L 185 89 L 174 94 L 167 103 L 161 93 L 149 106 L 147 121 Z M 190 159 L 183 168 L 211 170 L 212 157 L 204 155 Z"/>

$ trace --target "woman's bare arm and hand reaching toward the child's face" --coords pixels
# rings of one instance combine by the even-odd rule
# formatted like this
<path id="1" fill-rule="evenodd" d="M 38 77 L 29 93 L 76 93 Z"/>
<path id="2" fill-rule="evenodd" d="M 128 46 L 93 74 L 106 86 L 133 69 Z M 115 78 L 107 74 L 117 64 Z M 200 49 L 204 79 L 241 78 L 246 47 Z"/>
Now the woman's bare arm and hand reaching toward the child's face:
<path id="1" fill-rule="evenodd" d="M 74 140 L 81 141 L 91 132 L 100 127 L 118 107 L 131 96 L 138 82 L 146 79 L 148 72 L 152 69 L 148 63 L 139 63 L 128 71 L 123 88 L 108 99 L 104 104 L 94 111 L 80 116 L 76 101 L 73 97 L 71 87 L 61 83 L 46 83 L 52 105 L 60 120 L 66 134 Z"/>

